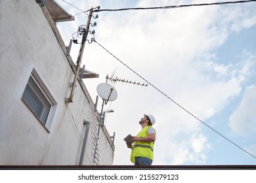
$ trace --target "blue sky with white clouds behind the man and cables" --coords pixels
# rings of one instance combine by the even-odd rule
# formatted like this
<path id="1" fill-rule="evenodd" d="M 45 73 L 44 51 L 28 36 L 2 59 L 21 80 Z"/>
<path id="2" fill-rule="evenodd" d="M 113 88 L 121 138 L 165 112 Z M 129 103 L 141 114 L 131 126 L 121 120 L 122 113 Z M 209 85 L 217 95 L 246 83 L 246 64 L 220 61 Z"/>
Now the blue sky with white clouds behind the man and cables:
<path id="1" fill-rule="evenodd" d="M 80 11 L 57 1 L 70 14 Z M 159 7 L 221 1 L 73 1 L 81 10 Z M 95 39 L 114 56 L 205 124 L 256 156 L 256 3 L 165 10 L 98 12 Z M 78 25 L 58 23 L 68 45 Z M 72 46 L 77 58 L 80 45 Z M 82 64 L 100 78 L 83 80 L 93 100 L 96 86 L 112 75 L 144 83 L 117 59 L 92 43 Z M 256 159 L 196 120 L 152 86 L 114 84 L 118 97 L 104 109 L 110 135 L 116 132 L 114 165 L 131 165 L 123 138 L 140 131 L 144 113 L 156 117 L 154 165 L 247 165 Z M 100 106 L 98 107 L 100 110 Z"/>

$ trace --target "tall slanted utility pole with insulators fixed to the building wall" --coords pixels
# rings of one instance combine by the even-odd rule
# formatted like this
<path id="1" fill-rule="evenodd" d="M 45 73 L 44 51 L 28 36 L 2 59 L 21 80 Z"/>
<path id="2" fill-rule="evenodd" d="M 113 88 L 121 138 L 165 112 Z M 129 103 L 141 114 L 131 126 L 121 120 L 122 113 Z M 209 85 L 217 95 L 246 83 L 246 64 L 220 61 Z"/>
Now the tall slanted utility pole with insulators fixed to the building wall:
<path id="1" fill-rule="evenodd" d="M 81 65 L 81 61 L 82 61 L 82 58 L 83 58 L 83 50 L 85 50 L 85 42 L 87 40 L 87 35 L 88 35 L 88 32 L 89 32 L 89 26 L 90 26 L 92 16 L 93 16 L 93 8 L 91 8 L 90 11 L 89 11 L 87 25 L 86 25 L 85 29 L 83 30 L 83 38 L 82 38 L 79 54 L 78 54 L 78 57 L 77 57 L 75 78 L 74 78 L 74 81 L 72 83 L 72 91 L 70 93 L 70 97 L 66 98 L 66 103 L 72 103 L 73 102 L 73 97 L 74 97 L 74 92 L 75 92 L 75 84 L 77 82 L 77 78 L 78 78 L 78 75 L 79 75 L 80 65 Z"/>

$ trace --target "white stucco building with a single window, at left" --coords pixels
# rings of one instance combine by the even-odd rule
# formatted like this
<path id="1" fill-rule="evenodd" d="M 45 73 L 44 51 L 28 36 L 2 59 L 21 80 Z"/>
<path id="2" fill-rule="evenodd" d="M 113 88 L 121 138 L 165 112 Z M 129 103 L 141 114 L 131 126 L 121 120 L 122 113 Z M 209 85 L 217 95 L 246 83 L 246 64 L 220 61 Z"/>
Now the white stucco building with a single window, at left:
<path id="1" fill-rule="evenodd" d="M 0 165 L 112 165 L 113 139 L 104 125 L 97 139 L 83 81 L 66 103 L 75 61 L 54 23 L 73 19 L 53 0 L 0 1 Z"/>

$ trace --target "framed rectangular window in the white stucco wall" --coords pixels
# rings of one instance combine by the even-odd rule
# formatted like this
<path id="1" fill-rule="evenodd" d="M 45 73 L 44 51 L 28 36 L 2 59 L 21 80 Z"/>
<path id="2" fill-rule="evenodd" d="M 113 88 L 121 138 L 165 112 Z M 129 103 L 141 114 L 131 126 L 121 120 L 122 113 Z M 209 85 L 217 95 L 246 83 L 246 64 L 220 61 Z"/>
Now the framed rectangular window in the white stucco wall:
<path id="1" fill-rule="evenodd" d="M 33 69 L 32 75 L 28 79 L 22 94 L 22 101 L 26 103 L 28 108 L 45 127 L 49 128 L 51 126 L 56 110 L 56 101 L 35 72 L 35 69 Z"/>

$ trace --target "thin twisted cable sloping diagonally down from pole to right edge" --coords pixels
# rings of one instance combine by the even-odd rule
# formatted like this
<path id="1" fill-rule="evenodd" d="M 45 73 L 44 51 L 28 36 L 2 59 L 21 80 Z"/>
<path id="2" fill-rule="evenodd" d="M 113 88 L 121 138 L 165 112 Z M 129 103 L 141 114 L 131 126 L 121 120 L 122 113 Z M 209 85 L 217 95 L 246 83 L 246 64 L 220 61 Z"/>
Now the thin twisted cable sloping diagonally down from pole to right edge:
<path id="1" fill-rule="evenodd" d="M 106 50 L 106 52 L 108 52 L 110 55 L 112 55 L 114 58 L 116 58 L 119 62 L 121 62 L 123 65 L 125 65 L 125 67 L 127 67 L 129 70 L 131 70 L 133 73 L 135 73 L 135 75 L 139 76 L 140 78 L 142 78 L 142 80 L 144 80 L 145 82 L 147 82 L 150 86 L 152 86 L 153 88 L 155 88 L 156 90 L 158 90 L 158 92 L 160 92 L 161 94 L 163 94 L 165 97 L 167 97 L 169 100 L 171 100 L 173 103 L 175 103 L 175 105 L 177 105 L 178 107 L 182 108 L 185 112 L 187 112 L 188 114 L 190 114 L 190 116 L 196 118 L 196 120 L 198 120 L 199 122 L 201 122 L 202 124 L 206 125 L 207 127 L 209 127 L 211 130 L 213 130 L 215 133 L 221 135 L 221 137 L 223 137 L 224 139 L 226 139 L 226 141 L 231 142 L 232 144 L 234 144 L 236 147 L 240 148 L 241 150 L 243 150 L 245 153 L 249 154 L 249 156 L 252 156 L 253 158 L 256 159 L 255 156 L 253 156 L 252 154 L 250 154 L 249 152 L 247 152 L 246 150 L 244 150 L 243 148 L 241 148 L 240 146 L 238 146 L 238 144 L 230 141 L 230 139 L 224 137 L 224 135 L 222 135 L 221 133 L 219 133 L 217 130 L 213 129 L 213 127 L 205 124 L 205 122 L 203 122 L 202 120 L 200 120 L 200 118 L 196 117 L 194 114 L 192 114 L 191 112 L 189 112 L 188 110 L 186 110 L 186 108 L 182 107 L 181 105 L 179 105 L 179 103 L 177 103 L 176 101 L 174 101 L 173 99 L 171 99 L 171 97 L 169 97 L 167 94 L 163 93 L 160 89 L 158 89 L 156 86 L 154 86 L 152 83 L 148 82 L 148 80 L 146 80 L 144 77 L 140 76 L 137 72 L 135 72 L 133 69 L 131 69 L 131 67 L 129 67 L 128 65 L 126 65 L 125 63 L 123 63 L 123 61 L 121 61 L 120 59 L 118 59 L 116 56 L 114 56 L 114 54 L 112 54 L 111 52 L 109 52 L 106 48 L 104 48 L 104 46 L 102 46 L 100 43 L 98 43 L 96 40 L 95 42 L 104 50 Z"/>

